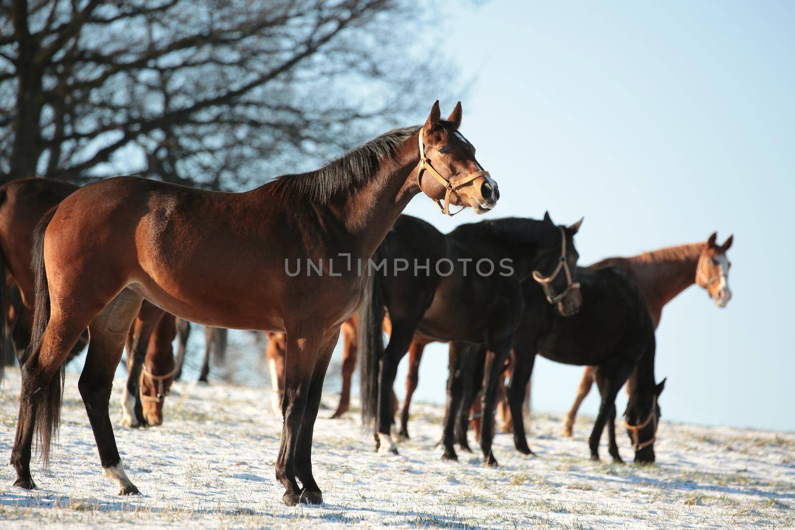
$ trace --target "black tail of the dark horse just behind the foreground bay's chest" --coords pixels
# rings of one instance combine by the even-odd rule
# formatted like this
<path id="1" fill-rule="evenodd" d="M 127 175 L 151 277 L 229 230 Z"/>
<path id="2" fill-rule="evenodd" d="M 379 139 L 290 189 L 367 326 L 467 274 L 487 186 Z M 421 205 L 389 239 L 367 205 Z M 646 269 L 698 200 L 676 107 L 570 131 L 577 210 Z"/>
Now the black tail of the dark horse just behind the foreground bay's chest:
<path id="1" fill-rule="evenodd" d="M 378 262 L 378 250 L 373 260 Z M 364 302 L 359 308 L 359 397 L 362 400 L 362 424 L 372 426 L 378 411 L 378 369 L 384 356 L 384 292 L 381 273 L 370 275 L 364 294 Z"/>

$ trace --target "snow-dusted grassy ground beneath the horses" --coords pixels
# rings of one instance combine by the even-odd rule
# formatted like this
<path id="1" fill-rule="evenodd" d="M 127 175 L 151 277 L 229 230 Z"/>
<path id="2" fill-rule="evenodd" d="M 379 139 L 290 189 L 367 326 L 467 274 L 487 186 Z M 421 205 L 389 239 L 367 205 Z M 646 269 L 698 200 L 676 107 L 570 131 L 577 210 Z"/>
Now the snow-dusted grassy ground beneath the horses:
<path id="1" fill-rule="evenodd" d="M 795 525 L 795 435 L 663 421 L 657 465 L 590 462 L 590 418 L 562 439 L 560 417 L 535 413 L 530 447 L 513 450 L 497 435 L 500 466 L 483 467 L 479 455 L 460 453 L 442 462 L 440 407 L 417 404 L 413 439 L 399 456 L 374 453 L 356 410 L 326 419 L 336 396 L 324 397 L 316 425 L 314 470 L 324 489 L 321 507 L 288 508 L 273 478 L 281 418 L 270 412 L 268 389 L 177 384 L 161 427 L 118 425 L 117 380 L 111 417 L 127 473 L 141 490 L 117 497 L 100 474 L 91 427 L 68 374 L 60 443 L 50 470 L 34 460 L 41 489 L 11 486 L 14 470 L 0 467 L 2 528 L 113 525 L 262 528 L 312 524 L 342 527 L 689 527 Z M 7 462 L 17 419 L 18 370 L 8 369 L 0 392 L 0 454 Z M 606 436 L 604 437 L 606 439 Z M 626 435 L 622 455 L 631 460 Z M 473 446 L 476 445 L 473 443 Z M 603 458 L 607 448 L 603 447 Z"/>

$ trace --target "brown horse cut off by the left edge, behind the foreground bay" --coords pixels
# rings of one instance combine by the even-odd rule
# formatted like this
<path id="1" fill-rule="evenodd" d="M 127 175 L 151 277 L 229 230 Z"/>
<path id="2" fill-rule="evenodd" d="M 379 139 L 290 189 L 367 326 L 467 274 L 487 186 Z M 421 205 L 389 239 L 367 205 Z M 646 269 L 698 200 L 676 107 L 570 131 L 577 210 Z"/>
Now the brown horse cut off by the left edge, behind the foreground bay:
<path id="1" fill-rule="evenodd" d="M 0 315 L 3 321 L 8 320 L 0 326 L 0 350 L 7 346 L 6 329 L 10 330 L 18 352 L 23 352 L 28 346 L 34 304 L 33 270 L 30 266 L 33 230 L 50 208 L 76 189 L 74 184 L 62 180 L 36 177 L 12 180 L 0 186 Z M 21 303 L 14 305 L 14 311 L 9 311 L 12 284 L 19 288 Z M 80 335 L 68 360 L 80 354 L 86 344 L 87 335 Z M 6 358 L 5 351 L 0 351 L 0 358 Z"/>

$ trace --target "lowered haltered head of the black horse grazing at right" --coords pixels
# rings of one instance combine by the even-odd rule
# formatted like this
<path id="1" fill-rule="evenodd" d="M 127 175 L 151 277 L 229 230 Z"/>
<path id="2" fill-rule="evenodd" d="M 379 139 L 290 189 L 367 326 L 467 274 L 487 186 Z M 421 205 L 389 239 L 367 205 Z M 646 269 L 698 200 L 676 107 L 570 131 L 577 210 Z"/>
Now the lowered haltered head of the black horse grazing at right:
<path id="1" fill-rule="evenodd" d="M 662 416 L 659 398 L 665 389 L 666 379 L 667 377 L 654 385 L 651 392 L 634 393 L 626 404 L 624 427 L 635 450 L 635 463 L 654 462 L 654 440 L 657 438 L 657 427 Z"/>

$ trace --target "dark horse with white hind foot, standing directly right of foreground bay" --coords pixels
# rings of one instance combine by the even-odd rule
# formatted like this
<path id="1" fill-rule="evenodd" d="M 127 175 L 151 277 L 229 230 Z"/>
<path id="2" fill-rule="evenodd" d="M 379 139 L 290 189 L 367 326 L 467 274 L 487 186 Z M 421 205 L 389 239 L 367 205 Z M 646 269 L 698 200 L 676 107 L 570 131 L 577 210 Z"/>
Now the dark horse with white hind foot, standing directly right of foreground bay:
<path id="1" fill-rule="evenodd" d="M 483 408 L 487 413 L 481 449 L 484 462 L 497 465 L 491 451 L 488 411 L 494 409 L 497 376 L 522 315 L 520 286 L 531 275 L 537 276 L 551 293 L 550 304 L 555 311 L 575 313 L 581 300 L 574 269 L 578 254 L 572 238 L 579 228 L 580 222 L 568 228 L 556 226 L 547 214 L 543 221 L 495 219 L 461 225 L 441 234 L 421 219 L 408 215 L 397 219 L 375 253 L 376 261 L 386 261 L 386 273 L 370 278 L 369 295 L 359 310 L 362 417 L 365 425 L 376 420 L 374 436 L 379 452 L 397 454 L 390 434 L 394 424 L 391 392 L 397 364 L 417 333 L 426 339 L 453 342 L 452 348 L 485 344 L 488 354 Z M 400 269 L 398 262 L 407 265 Z M 444 268 L 440 265 L 443 262 Z M 483 267 L 487 273 L 480 272 L 483 263 L 490 264 Z M 394 271 L 389 270 L 389 264 L 394 264 Z M 417 264 L 422 264 L 423 273 L 419 273 Z M 510 271 L 506 272 L 506 264 L 510 264 Z M 544 277 L 539 271 L 552 274 Z M 385 310 L 392 327 L 386 350 L 382 343 Z M 457 367 L 451 369 L 455 372 Z M 452 435 L 445 433 L 445 437 L 448 434 Z M 448 448 L 445 444 L 443 458 L 456 458 Z"/>

